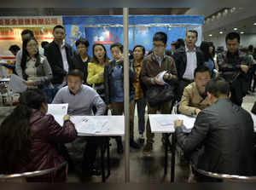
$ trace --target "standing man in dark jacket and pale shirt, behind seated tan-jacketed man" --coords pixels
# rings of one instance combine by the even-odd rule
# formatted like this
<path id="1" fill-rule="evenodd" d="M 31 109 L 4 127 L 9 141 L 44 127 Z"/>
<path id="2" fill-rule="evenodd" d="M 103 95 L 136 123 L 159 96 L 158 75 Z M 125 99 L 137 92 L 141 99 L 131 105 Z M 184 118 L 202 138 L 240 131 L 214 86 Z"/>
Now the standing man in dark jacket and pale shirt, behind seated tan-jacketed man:
<path id="1" fill-rule="evenodd" d="M 189 30 L 186 33 L 186 45 L 176 49 L 172 57 L 175 60 L 178 78 L 177 101 L 180 101 L 183 95 L 183 89 L 194 81 L 194 71 L 197 66 L 204 64 L 204 55 L 200 49 L 195 46 L 198 33 Z"/>

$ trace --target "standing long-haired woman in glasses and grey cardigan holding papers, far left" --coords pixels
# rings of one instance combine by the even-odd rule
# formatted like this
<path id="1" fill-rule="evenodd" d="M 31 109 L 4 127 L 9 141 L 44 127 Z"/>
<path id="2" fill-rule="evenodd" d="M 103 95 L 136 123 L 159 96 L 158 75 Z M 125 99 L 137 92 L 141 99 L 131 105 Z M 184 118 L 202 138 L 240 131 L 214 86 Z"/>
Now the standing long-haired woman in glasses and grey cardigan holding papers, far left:
<path id="1" fill-rule="evenodd" d="M 19 77 L 25 80 L 28 89 L 43 89 L 47 94 L 47 101 L 51 101 L 51 90 L 48 90 L 53 88 L 50 83 L 51 68 L 46 57 L 39 55 L 38 41 L 34 37 L 23 41 L 20 67 L 17 67 L 16 71 Z"/>

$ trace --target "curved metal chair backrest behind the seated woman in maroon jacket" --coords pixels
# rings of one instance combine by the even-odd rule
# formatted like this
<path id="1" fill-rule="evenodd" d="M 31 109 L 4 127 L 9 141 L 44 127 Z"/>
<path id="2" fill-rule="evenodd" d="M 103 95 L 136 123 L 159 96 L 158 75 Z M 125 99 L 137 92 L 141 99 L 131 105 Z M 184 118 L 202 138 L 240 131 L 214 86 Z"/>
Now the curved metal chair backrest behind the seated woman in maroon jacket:
<path id="1" fill-rule="evenodd" d="M 54 172 L 56 170 L 61 170 L 61 168 L 67 166 L 67 162 L 64 162 L 58 166 L 56 166 L 55 168 L 50 168 L 47 170 L 37 170 L 37 171 L 29 171 L 29 172 L 24 172 L 24 173 L 20 173 L 20 174 L 8 174 L 8 175 L 3 175 L 0 174 L 0 182 L 4 181 L 19 181 L 23 182 L 26 181 L 25 179 L 28 177 L 34 177 L 34 176 L 43 176 L 46 174 L 49 174 L 50 172 Z"/>

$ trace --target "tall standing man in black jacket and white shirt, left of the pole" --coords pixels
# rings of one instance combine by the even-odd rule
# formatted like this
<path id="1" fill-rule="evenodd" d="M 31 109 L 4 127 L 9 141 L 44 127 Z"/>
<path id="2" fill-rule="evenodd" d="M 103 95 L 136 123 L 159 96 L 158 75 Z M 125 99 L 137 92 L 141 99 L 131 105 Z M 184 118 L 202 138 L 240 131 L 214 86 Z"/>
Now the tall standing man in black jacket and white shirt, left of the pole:
<path id="1" fill-rule="evenodd" d="M 52 70 L 52 83 L 55 86 L 55 93 L 66 84 L 65 76 L 67 72 L 73 69 L 72 57 L 74 51 L 70 45 L 64 43 L 66 37 L 65 28 L 57 25 L 53 29 L 54 41 L 49 43 L 44 49 L 44 55 L 47 57 Z M 54 93 L 54 94 L 55 94 Z"/>

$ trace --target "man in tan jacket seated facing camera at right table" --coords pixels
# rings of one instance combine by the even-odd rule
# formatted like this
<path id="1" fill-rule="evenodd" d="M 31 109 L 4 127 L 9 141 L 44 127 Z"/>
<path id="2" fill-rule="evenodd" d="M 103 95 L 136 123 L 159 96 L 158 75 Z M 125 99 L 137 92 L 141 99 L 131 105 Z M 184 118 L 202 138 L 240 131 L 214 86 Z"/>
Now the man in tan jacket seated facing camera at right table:
<path id="1" fill-rule="evenodd" d="M 178 107 L 180 113 L 194 116 L 210 105 L 205 92 L 206 85 L 210 79 L 211 74 L 207 66 L 201 65 L 195 69 L 195 82 L 190 83 L 183 91 Z"/>

